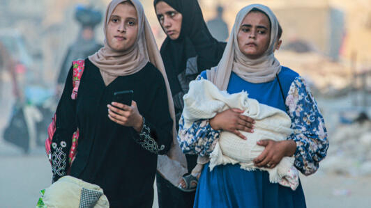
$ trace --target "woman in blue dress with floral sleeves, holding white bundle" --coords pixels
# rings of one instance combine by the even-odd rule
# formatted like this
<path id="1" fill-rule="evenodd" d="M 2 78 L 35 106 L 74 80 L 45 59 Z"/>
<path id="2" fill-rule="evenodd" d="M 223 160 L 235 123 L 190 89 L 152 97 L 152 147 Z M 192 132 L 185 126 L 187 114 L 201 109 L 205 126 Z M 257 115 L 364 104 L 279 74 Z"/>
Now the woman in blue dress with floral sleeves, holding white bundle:
<path id="1" fill-rule="evenodd" d="M 326 128 L 304 79 L 280 65 L 274 56 L 279 30 L 278 19 L 271 9 L 261 4 L 246 6 L 236 16 L 218 66 L 202 72 L 197 79 L 208 79 L 229 94 L 245 90 L 248 97 L 259 103 L 287 112 L 294 133 L 285 141 L 258 141 L 257 145 L 265 149 L 254 159 L 255 166 L 274 168 L 282 157 L 294 157 L 294 166 L 304 175 L 310 175 L 326 156 Z M 241 109 L 229 109 L 210 120 L 193 122 L 190 127 L 183 125 L 182 116 L 178 140 L 183 152 L 208 157 L 221 131 L 249 139 L 240 131 L 253 133 L 254 121 L 241 113 Z M 245 171 L 238 164 L 216 166 L 210 171 L 206 163 L 194 207 L 305 207 L 305 198 L 301 184 L 295 191 L 273 184 L 266 171 Z"/>

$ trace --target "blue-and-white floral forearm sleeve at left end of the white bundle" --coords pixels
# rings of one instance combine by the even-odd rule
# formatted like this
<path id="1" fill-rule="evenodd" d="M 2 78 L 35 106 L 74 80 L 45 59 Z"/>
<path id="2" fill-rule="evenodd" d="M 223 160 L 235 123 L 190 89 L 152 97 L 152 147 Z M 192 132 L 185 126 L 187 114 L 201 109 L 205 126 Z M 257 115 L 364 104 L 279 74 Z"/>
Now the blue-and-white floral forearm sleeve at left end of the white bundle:
<path id="1" fill-rule="evenodd" d="M 184 154 L 209 156 L 218 142 L 220 131 L 214 130 L 209 120 L 197 120 L 190 128 L 184 127 L 184 118 L 179 120 L 178 141 Z"/>

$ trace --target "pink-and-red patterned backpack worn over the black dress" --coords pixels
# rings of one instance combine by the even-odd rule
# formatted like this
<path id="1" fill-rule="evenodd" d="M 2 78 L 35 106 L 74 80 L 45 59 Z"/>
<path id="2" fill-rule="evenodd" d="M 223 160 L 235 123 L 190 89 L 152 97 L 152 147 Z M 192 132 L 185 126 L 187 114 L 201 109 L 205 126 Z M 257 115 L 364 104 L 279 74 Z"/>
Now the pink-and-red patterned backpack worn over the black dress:
<path id="1" fill-rule="evenodd" d="M 84 67 L 85 67 L 84 60 L 73 61 L 73 82 L 72 82 L 73 92 L 71 94 L 71 99 L 77 98 L 77 91 L 79 90 L 79 83 L 82 77 L 82 72 L 84 72 Z M 56 129 L 56 113 L 54 113 L 52 122 L 50 123 L 49 127 L 47 127 L 48 136 L 47 136 L 47 139 L 45 140 L 45 150 L 46 150 L 47 157 L 50 163 L 52 163 L 51 146 L 52 146 L 52 139 L 54 136 L 55 129 Z M 79 139 L 79 129 L 77 129 L 73 133 L 73 136 L 72 136 L 72 145 L 70 148 L 70 152 L 68 154 L 68 163 L 70 164 L 70 166 L 73 163 L 73 160 L 75 159 L 78 139 Z"/>

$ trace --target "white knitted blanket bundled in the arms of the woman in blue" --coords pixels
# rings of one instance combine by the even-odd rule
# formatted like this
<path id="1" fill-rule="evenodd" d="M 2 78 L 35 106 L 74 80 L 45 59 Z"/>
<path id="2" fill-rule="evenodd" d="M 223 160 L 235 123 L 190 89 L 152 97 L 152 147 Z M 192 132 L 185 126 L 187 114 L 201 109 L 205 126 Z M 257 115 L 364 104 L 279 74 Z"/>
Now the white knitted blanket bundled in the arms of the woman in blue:
<path id="1" fill-rule="evenodd" d="M 185 128 L 190 127 L 196 120 L 213 118 L 216 113 L 232 108 L 242 109 L 243 115 L 255 120 L 253 133 L 241 131 L 247 140 L 229 131 L 221 132 L 219 141 L 210 155 L 210 171 L 215 166 L 227 163 L 239 163 L 244 170 L 255 170 L 257 167 L 252 160 L 264 150 L 264 147 L 256 144 L 257 141 L 263 139 L 282 141 L 292 133 L 291 119 L 284 111 L 259 104 L 256 99 L 248 98 L 246 92 L 228 94 L 226 91 L 220 91 L 211 81 L 205 79 L 191 81 L 190 89 L 183 99 Z M 280 182 L 295 190 L 298 186 L 298 171 L 293 164 L 293 157 L 283 157 L 275 168 L 258 169 L 268 171 L 271 182 Z"/>

